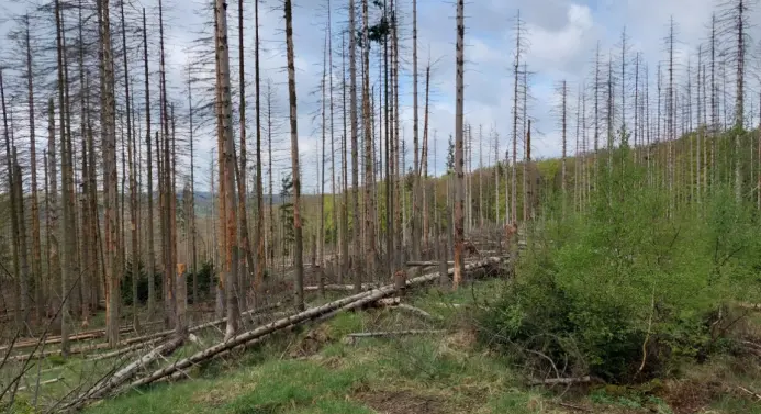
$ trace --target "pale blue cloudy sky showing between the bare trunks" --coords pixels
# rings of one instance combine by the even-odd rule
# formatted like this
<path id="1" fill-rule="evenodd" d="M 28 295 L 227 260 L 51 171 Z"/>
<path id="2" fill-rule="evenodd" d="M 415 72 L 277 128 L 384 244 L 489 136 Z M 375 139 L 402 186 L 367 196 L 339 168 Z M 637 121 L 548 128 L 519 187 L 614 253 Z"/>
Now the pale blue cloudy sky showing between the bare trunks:
<path id="1" fill-rule="evenodd" d="M 11 12 L 23 5 L 3 0 Z M 142 1 L 142 2 L 141 2 Z M 133 0 L 139 8 L 153 8 L 156 0 Z M 333 31 L 338 33 L 346 23 L 345 3 L 348 0 L 332 0 L 334 10 Z M 253 9 L 246 1 L 248 9 Z M 302 158 L 304 192 L 314 192 L 318 178 L 315 161 L 318 157 L 320 85 L 322 80 L 323 49 L 326 33 L 327 0 L 293 0 L 294 48 L 299 102 L 299 146 Z M 194 32 L 211 16 L 201 16 L 199 0 L 166 0 L 167 52 L 169 82 L 180 87 L 184 80 L 183 67 L 190 61 L 188 46 L 197 37 Z M 276 108 L 280 122 L 288 115 L 288 88 L 284 45 L 284 22 L 280 1 L 266 0 L 261 8 L 260 31 L 262 38 L 262 78 L 270 78 L 277 88 Z M 678 24 L 676 56 L 681 70 L 687 59 L 695 59 L 697 45 L 704 42 L 707 23 L 716 8 L 713 0 L 470 0 L 466 3 L 466 71 L 465 116 L 474 132 L 473 167 L 479 158 L 493 159 L 493 145 L 486 145 L 488 134 L 500 134 L 500 153 L 504 156 L 511 136 L 513 78 L 511 74 L 514 54 L 514 22 L 519 11 L 526 24 L 528 40 L 525 63 L 533 72 L 529 115 L 535 120 L 536 131 L 531 142 L 534 157 L 555 157 L 561 152 L 558 123 L 556 86 L 568 81 L 572 92 L 569 101 L 574 102 L 577 90 L 591 74 L 592 58 L 600 42 L 603 54 L 618 53 L 620 33 L 626 33 L 631 45 L 631 55 L 640 52 L 650 65 L 650 75 L 658 61 L 665 58 L 663 37 L 673 15 Z M 237 2 L 231 2 L 228 21 L 235 23 Z M 430 134 L 436 141 L 429 149 L 432 172 L 444 170 L 447 141 L 455 127 L 455 13 L 454 0 L 418 0 L 418 72 L 421 137 L 423 123 L 423 91 L 425 66 L 430 60 L 432 102 Z M 412 110 L 412 1 L 399 4 L 402 22 L 402 77 L 400 85 L 402 135 L 407 145 L 407 166 L 412 163 L 413 137 Z M 761 10 L 761 8 L 757 8 Z M 759 10 L 753 11 L 753 21 L 759 21 Z M 250 13 L 250 14 L 248 14 Z M 249 19 L 250 18 L 250 19 Z M 155 19 L 155 15 L 149 15 Z M 247 42 L 253 42 L 253 11 L 247 12 Z M 9 23 L 3 26 L 8 30 Z M 234 29 L 234 27 L 232 27 Z M 231 41 L 237 42 L 231 33 Z M 334 46 L 334 77 L 340 77 L 340 37 L 336 35 Z M 248 46 L 246 71 L 254 72 L 253 46 Z M 0 51 L 1 52 L 1 51 Z M 3 55 L 0 55 L 3 56 Z M 376 57 L 377 58 L 377 57 Z M 236 80 L 234 80 L 236 81 Z M 249 92 L 253 89 L 249 88 Z M 340 92 L 335 94 L 340 99 Z M 361 99 L 361 93 L 358 93 Z M 253 102 L 249 103 L 253 108 Z M 234 108 L 236 111 L 237 109 Z M 253 116 L 253 111 L 248 116 Z M 573 125 L 573 124 L 571 124 Z M 478 131 L 482 126 L 484 144 L 479 146 Z M 343 130 L 343 120 L 336 115 L 336 137 Z M 279 169 L 290 166 L 288 160 L 290 142 L 287 124 L 282 124 L 275 145 L 281 148 L 276 165 Z M 571 139 L 573 137 L 571 136 Z M 198 137 L 201 161 L 197 176 L 208 176 L 212 148 L 212 134 Z M 434 152 L 434 146 L 436 152 Z M 336 147 L 337 148 L 337 147 Z M 572 142 L 569 143 L 571 152 Z M 327 148 L 329 155 L 329 147 Z M 336 149 L 337 152 L 337 149 Z M 436 159 L 434 160 L 434 154 Z M 204 160 L 205 159 L 205 160 Z M 491 163 L 489 163 L 491 164 Z M 326 178 L 329 190 L 329 167 Z M 277 172 L 276 172 L 277 175 Z"/>

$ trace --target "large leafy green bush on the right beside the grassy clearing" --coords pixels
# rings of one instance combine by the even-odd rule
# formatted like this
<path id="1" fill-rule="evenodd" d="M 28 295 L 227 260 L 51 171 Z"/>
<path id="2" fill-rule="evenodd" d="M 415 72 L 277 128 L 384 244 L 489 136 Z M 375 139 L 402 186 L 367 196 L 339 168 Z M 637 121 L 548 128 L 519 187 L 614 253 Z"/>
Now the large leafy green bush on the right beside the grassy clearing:
<path id="1" fill-rule="evenodd" d="M 719 309 L 759 292 L 752 208 L 719 189 L 674 209 L 668 191 L 651 189 L 630 155 L 619 155 L 620 172 L 600 179 L 583 213 L 537 224 L 516 279 L 481 316 L 482 338 L 537 377 L 668 374 L 683 358 L 714 353 Z"/>

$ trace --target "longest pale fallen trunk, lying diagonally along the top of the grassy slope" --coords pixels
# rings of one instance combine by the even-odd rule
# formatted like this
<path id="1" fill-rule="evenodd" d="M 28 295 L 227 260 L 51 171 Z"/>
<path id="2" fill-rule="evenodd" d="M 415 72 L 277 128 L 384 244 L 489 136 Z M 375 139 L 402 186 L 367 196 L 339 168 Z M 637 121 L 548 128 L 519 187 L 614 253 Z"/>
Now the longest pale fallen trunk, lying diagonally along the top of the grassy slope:
<path id="1" fill-rule="evenodd" d="M 497 264 L 501 259 L 500 258 L 488 258 L 484 260 L 480 260 L 473 264 L 466 265 L 466 270 L 472 270 L 477 268 L 481 268 L 484 266 Z M 454 269 L 448 269 L 448 273 L 451 275 L 454 273 Z M 416 286 L 421 283 L 426 283 L 430 281 L 438 280 L 439 273 L 430 273 L 430 275 L 425 275 L 421 276 L 414 279 L 410 279 L 406 281 L 406 286 Z M 361 292 L 357 294 L 352 294 L 350 296 L 339 299 L 337 301 L 326 303 L 322 306 L 313 307 L 310 310 L 306 310 L 301 313 L 296 313 L 294 315 L 275 321 L 272 323 L 269 323 L 267 325 L 259 326 L 253 331 L 245 332 L 243 334 L 236 335 L 231 337 L 230 339 L 222 342 L 220 344 L 216 344 L 214 346 L 211 346 L 204 350 L 201 350 L 188 358 L 178 360 L 174 362 L 172 365 L 168 367 L 164 367 L 146 377 L 143 377 L 141 379 L 137 379 L 136 381 L 133 381 L 128 388 L 135 388 L 135 387 L 142 387 L 149 384 L 152 382 L 155 382 L 164 377 L 171 376 L 175 372 L 178 372 L 180 370 L 184 370 L 195 363 L 202 362 L 206 359 L 210 359 L 214 357 L 215 355 L 219 355 L 221 353 L 224 353 L 226 350 L 236 348 L 238 346 L 246 345 L 250 342 L 257 340 L 266 335 L 269 335 L 276 331 L 286 328 L 291 325 L 295 325 L 305 321 L 310 321 L 316 317 L 332 317 L 336 315 L 339 312 L 343 311 L 348 311 L 352 309 L 358 309 L 361 306 L 367 305 L 368 303 L 378 301 L 379 299 L 382 299 L 384 296 L 391 295 L 396 292 L 396 289 L 394 286 L 385 286 L 382 288 L 378 288 L 368 292 Z"/>

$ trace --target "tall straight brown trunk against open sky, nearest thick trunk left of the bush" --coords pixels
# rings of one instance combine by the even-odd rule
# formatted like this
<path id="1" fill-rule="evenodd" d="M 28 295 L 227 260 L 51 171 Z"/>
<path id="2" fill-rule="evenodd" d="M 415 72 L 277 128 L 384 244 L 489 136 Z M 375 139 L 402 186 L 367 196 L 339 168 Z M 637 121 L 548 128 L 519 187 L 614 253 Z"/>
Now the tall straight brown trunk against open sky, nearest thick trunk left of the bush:
<path id="1" fill-rule="evenodd" d="M 457 1 L 457 105 L 455 109 L 455 277 L 452 289 L 457 290 L 462 281 L 465 273 L 465 260 L 462 257 L 462 246 L 465 242 L 463 216 L 465 200 L 462 194 L 463 186 L 463 160 L 462 160 L 462 127 L 463 127 L 463 89 L 465 89 L 465 0 Z"/>

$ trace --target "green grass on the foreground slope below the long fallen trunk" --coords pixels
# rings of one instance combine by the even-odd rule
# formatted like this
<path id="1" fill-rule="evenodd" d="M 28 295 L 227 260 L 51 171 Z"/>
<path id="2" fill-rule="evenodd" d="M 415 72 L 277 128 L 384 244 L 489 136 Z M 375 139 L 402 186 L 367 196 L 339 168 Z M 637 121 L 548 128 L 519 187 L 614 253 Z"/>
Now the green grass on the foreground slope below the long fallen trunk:
<path id="1" fill-rule="evenodd" d="M 504 281 L 479 282 L 474 289 L 418 292 L 410 302 L 447 322 L 424 322 L 399 310 L 377 309 L 342 313 L 333 320 L 276 335 L 238 358 L 194 367 L 195 379 L 135 390 L 88 407 L 86 414 L 369 414 L 391 413 L 510 413 L 571 414 L 557 404 L 551 391 L 526 389 L 519 368 L 484 348 L 475 334 L 461 329 L 480 305 L 495 298 Z M 462 306 L 451 306 L 452 303 Z M 445 328 L 449 334 L 403 338 L 361 339 L 347 344 L 350 333 L 415 328 Z M 309 337 L 309 338 L 307 338 Z M 315 339 L 316 338 L 316 339 Z M 211 344 L 213 338 L 204 338 Z M 195 350 L 186 345 L 170 359 Z M 46 368 L 49 361 L 44 361 Z M 59 371 L 88 368 L 71 359 Z M 706 368 L 706 371 L 715 371 Z M 697 373 L 703 376 L 703 373 Z M 748 387 L 757 385 L 750 382 Z M 57 384 L 45 392 L 56 390 Z M 66 389 L 60 385 L 63 392 Z M 753 389 L 761 389 L 753 388 Z M 562 391 L 562 390 L 557 390 Z M 647 396 L 597 392 L 574 395 L 573 404 L 614 414 L 668 414 L 664 403 Z M 568 396 L 568 395 L 567 395 Z M 15 412 L 32 414 L 23 395 Z M 761 409 L 738 395 L 726 395 L 712 407 L 716 414 L 761 414 Z"/>

